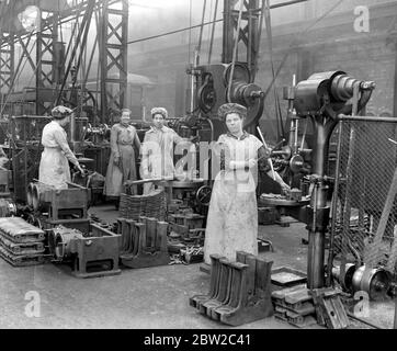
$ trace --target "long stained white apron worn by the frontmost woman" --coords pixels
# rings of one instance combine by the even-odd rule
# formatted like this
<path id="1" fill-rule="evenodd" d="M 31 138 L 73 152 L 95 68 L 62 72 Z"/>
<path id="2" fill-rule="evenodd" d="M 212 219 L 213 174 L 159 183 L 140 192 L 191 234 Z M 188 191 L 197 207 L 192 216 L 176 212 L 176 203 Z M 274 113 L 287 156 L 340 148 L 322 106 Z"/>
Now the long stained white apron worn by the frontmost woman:
<path id="1" fill-rule="evenodd" d="M 227 145 L 230 150 L 227 161 L 257 158 L 262 146 L 249 134 L 243 139 L 222 135 L 218 143 Z M 205 229 L 205 263 L 211 264 L 213 253 L 230 261 L 236 261 L 236 251 L 258 254 L 257 183 L 252 174 L 257 172 L 223 170 L 216 176 Z"/>

